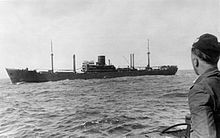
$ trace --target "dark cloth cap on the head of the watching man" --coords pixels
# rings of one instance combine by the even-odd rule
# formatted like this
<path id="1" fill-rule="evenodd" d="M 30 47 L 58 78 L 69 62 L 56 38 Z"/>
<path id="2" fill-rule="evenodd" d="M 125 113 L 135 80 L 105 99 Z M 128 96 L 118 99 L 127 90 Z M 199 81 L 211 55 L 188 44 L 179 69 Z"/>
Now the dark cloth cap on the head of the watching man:
<path id="1" fill-rule="evenodd" d="M 201 35 L 192 47 L 210 57 L 218 57 L 220 55 L 220 43 L 218 38 L 212 34 Z"/>

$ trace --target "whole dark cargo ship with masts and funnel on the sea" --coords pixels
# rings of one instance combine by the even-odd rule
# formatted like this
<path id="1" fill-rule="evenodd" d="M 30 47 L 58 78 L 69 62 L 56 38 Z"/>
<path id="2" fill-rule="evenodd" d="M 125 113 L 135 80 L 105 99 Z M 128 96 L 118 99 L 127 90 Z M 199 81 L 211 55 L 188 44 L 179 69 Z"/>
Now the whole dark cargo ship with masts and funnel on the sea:
<path id="1" fill-rule="evenodd" d="M 106 65 L 105 56 L 98 56 L 98 62 L 84 62 L 82 72 L 76 72 L 75 55 L 73 55 L 73 69 L 70 71 L 54 71 L 53 68 L 53 50 L 51 41 L 51 70 L 37 71 L 26 69 L 6 68 L 12 83 L 18 82 L 47 82 L 59 80 L 74 79 L 105 79 L 124 76 L 143 76 L 143 75 L 175 75 L 177 66 L 158 66 L 150 67 L 150 52 L 148 40 L 148 65 L 142 69 L 134 67 L 134 54 L 130 54 L 130 67 L 115 68 L 114 65 Z"/>

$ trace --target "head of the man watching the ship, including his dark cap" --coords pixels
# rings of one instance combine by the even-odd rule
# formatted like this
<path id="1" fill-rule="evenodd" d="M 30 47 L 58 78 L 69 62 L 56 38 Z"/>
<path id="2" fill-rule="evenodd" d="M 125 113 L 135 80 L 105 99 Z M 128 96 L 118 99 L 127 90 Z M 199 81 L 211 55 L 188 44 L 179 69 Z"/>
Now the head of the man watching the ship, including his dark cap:
<path id="1" fill-rule="evenodd" d="M 197 75 L 210 67 L 217 66 L 220 55 L 220 43 L 216 36 L 203 34 L 192 45 L 192 65 Z"/>

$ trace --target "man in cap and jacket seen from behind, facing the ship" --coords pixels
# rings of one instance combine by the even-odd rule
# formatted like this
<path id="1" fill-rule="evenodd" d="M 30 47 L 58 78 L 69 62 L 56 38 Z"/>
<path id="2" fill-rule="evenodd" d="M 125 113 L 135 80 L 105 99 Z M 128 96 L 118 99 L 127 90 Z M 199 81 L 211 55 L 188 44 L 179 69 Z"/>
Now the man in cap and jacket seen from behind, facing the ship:
<path id="1" fill-rule="evenodd" d="M 201 35 L 192 45 L 192 65 L 199 76 L 188 95 L 191 138 L 220 138 L 219 55 L 220 43 L 212 34 Z"/>

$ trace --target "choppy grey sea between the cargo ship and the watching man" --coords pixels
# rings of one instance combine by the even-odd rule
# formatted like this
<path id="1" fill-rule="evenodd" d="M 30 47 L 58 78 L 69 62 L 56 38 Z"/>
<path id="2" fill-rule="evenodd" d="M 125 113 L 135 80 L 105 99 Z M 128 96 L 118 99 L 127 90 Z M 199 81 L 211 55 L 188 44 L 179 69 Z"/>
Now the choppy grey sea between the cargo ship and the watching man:
<path id="1" fill-rule="evenodd" d="M 0 80 L 0 137 L 123 138 L 183 123 L 196 75 Z"/>

